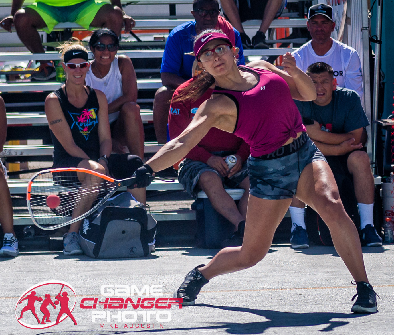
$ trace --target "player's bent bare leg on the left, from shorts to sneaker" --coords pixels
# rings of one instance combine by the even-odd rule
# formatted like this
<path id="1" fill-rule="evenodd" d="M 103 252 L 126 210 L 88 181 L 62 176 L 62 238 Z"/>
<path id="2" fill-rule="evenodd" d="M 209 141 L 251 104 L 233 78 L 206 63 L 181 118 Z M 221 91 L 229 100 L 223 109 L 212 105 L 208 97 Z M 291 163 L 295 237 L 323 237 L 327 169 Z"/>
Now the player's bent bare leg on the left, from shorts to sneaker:
<path id="1" fill-rule="evenodd" d="M 208 265 L 199 268 L 203 276 L 210 280 L 220 274 L 253 267 L 261 261 L 290 202 L 291 199 L 265 200 L 249 195 L 242 246 L 220 250 Z"/>

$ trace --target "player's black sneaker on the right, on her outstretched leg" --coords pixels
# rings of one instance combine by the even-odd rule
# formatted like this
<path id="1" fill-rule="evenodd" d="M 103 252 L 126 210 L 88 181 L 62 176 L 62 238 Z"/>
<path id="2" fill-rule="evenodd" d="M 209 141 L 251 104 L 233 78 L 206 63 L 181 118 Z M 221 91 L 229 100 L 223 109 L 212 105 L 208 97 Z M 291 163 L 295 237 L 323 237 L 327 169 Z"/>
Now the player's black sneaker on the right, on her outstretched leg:
<path id="1" fill-rule="evenodd" d="M 377 312 L 377 302 L 376 302 L 376 292 L 371 284 L 365 281 L 351 281 L 353 285 L 357 284 L 357 293 L 351 298 L 351 301 L 357 296 L 357 300 L 351 307 L 353 313 L 376 313 Z"/>

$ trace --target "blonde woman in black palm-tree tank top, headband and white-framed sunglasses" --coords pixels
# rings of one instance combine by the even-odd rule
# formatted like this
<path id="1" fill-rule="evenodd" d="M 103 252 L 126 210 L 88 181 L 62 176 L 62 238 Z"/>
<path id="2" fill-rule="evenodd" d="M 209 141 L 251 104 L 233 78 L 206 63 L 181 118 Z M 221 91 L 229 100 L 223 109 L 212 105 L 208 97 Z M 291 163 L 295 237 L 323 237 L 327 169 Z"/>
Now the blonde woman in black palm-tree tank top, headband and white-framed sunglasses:
<path id="1" fill-rule="evenodd" d="M 84 84 L 91 66 L 86 48 L 77 40 L 66 42 L 61 49 L 67 81 L 45 100 L 45 114 L 54 144 L 52 167 L 86 168 L 116 179 L 130 177 L 132 171 L 142 165 L 142 160 L 136 155 L 111 155 L 106 96 Z M 78 178 L 82 185 L 89 185 L 89 177 Z M 74 217 L 81 207 L 74 210 Z M 81 221 L 71 224 L 63 236 L 63 254 L 83 254 L 78 243 L 80 225 Z"/>

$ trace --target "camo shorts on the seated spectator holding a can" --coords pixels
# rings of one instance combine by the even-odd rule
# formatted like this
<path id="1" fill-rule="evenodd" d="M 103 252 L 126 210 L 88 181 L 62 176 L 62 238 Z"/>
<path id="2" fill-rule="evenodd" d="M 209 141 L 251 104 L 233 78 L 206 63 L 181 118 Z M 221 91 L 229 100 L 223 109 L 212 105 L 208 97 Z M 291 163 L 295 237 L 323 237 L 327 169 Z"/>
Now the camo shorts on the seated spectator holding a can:
<path id="1" fill-rule="evenodd" d="M 234 152 L 219 152 L 213 153 L 215 155 L 219 155 L 221 157 L 225 157 Z M 217 172 L 214 168 L 210 167 L 209 165 L 200 162 L 200 161 L 193 161 L 192 159 L 185 158 L 179 164 L 179 171 L 178 171 L 178 181 L 183 185 L 185 191 L 193 197 L 194 200 L 197 199 L 198 192 L 201 189 L 198 187 L 198 181 L 200 179 L 201 174 L 203 172 L 210 171 L 216 173 L 220 179 L 222 180 L 223 185 L 235 189 L 238 185 L 248 176 L 247 171 L 247 162 L 243 162 L 242 168 L 238 171 L 234 176 L 231 178 L 223 178 L 219 172 Z"/>

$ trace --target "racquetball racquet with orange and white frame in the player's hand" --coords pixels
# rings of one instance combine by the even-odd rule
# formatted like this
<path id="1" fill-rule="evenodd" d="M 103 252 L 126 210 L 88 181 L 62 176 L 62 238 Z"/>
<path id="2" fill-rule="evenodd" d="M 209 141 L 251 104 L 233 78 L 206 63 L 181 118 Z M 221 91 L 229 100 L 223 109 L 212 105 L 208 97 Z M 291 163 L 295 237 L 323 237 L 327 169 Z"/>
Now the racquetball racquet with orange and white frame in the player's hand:
<path id="1" fill-rule="evenodd" d="M 56 229 L 87 217 L 121 187 L 134 188 L 135 181 L 135 177 L 116 180 L 84 168 L 43 170 L 28 183 L 28 210 L 36 226 Z"/>

